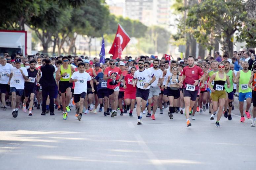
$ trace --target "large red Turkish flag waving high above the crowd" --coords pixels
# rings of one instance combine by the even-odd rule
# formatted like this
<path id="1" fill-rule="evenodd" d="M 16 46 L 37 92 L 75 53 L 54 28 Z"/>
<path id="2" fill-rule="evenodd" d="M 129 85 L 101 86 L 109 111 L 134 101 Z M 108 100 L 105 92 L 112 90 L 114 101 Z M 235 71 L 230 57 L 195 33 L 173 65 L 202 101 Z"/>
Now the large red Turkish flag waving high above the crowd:
<path id="1" fill-rule="evenodd" d="M 114 42 L 112 44 L 112 47 L 109 50 L 109 54 L 113 55 L 112 59 L 121 58 L 122 51 L 130 41 L 130 37 L 126 33 L 126 31 L 123 29 L 123 27 L 118 24 L 117 33 L 114 39 Z"/>

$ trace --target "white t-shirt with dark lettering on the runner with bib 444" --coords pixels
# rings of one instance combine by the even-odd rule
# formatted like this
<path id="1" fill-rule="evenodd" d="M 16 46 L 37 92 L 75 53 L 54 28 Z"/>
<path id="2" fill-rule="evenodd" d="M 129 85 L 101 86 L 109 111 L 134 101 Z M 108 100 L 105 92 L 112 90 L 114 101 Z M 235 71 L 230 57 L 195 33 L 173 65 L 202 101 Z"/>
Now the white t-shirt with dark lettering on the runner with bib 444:
<path id="1" fill-rule="evenodd" d="M 149 89 L 150 85 L 147 88 L 143 88 L 143 86 L 145 85 L 145 83 L 149 83 L 150 80 L 152 79 L 152 77 L 154 76 L 154 74 L 148 70 L 148 69 L 144 69 L 143 71 L 135 71 L 133 78 L 137 79 L 137 87 L 141 88 L 141 89 Z"/>

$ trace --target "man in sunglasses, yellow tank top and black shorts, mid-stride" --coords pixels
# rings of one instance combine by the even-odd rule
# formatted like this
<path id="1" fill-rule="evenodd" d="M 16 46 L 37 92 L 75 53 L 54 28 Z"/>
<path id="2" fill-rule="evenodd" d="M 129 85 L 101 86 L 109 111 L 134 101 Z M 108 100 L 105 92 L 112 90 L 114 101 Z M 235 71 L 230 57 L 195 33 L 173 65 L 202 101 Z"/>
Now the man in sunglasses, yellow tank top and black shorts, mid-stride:
<path id="1" fill-rule="evenodd" d="M 69 100 L 71 99 L 71 88 L 73 86 L 72 83 L 69 82 L 71 75 L 75 72 L 74 68 L 68 64 L 68 57 L 62 57 L 62 63 L 57 72 L 56 72 L 56 80 L 59 80 L 59 91 L 61 95 L 61 104 L 63 107 L 63 119 L 67 119 L 67 112 L 70 112 L 70 108 L 68 106 Z"/>

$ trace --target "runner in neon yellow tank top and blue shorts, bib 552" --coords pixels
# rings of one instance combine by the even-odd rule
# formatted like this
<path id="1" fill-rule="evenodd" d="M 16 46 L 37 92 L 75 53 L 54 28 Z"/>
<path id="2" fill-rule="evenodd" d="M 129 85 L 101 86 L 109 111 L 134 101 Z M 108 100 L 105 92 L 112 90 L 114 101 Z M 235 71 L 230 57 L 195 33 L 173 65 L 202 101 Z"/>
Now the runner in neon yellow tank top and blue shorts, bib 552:
<path id="1" fill-rule="evenodd" d="M 250 81 L 251 75 L 253 74 L 252 71 L 248 70 L 249 64 L 247 61 L 242 62 L 242 70 L 237 72 L 235 84 L 239 83 L 239 110 L 241 114 L 240 122 L 244 122 L 245 118 L 243 116 L 243 103 L 244 99 L 246 99 L 246 110 L 245 114 L 248 119 L 251 118 L 251 114 L 249 109 L 251 107 L 252 101 L 252 89 L 248 86 Z"/>

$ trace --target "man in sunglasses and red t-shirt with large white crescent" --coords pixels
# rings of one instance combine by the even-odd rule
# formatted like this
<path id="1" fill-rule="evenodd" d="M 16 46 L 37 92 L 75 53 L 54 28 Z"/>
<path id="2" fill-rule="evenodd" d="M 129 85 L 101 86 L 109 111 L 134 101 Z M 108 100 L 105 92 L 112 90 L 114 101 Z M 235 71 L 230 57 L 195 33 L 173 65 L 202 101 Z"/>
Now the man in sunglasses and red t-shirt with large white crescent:
<path id="1" fill-rule="evenodd" d="M 123 73 L 119 67 L 116 67 L 115 61 L 109 61 L 109 67 L 105 69 L 103 79 L 107 80 L 107 90 L 111 104 L 111 117 L 117 116 L 119 83 L 123 78 Z"/>

